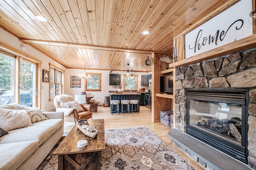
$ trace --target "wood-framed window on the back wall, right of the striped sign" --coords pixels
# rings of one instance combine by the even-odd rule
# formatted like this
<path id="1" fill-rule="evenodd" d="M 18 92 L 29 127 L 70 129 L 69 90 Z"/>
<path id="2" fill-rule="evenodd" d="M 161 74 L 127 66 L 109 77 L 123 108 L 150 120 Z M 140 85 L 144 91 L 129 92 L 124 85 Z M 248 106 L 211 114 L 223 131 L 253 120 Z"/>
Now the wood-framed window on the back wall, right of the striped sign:
<path id="1" fill-rule="evenodd" d="M 91 79 L 84 80 L 84 90 L 86 91 L 100 91 L 101 90 L 101 73 L 86 73 L 92 76 Z"/>

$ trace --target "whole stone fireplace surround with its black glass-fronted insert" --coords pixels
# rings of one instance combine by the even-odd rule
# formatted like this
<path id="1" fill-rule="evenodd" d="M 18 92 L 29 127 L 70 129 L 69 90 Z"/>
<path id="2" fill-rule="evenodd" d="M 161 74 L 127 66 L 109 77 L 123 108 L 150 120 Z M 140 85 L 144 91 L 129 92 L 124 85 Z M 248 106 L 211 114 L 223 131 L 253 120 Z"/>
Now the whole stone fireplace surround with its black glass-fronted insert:
<path id="1" fill-rule="evenodd" d="M 199 133 L 198 138 L 207 132 L 210 137 L 206 135 L 206 137 L 202 137 L 204 139 L 201 141 L 208 141 L 204 141 L 208 145 L 211 145 L 209 141 L 219 136 L 220 141 L 223 139 L 227 141 L 224 142 L 224 145 L 238 146 L 234 147 L 235 151 L 232 152 L 240 152 L 244 148 L 242 152 L 244 157 L 237 156 L 236 159 L 255 169 L 256 48 L 176 68 L 175 82 L 176 129 L 193 137 Z M 193 92 L 198 92 L 198 90 L 199 94 L 194 95 Z M 222 99 L 210 96 L 209 100 L 205 101 L 211 91 L 218 92 Z M 244 99 L 238 100 L 243 102 L 224 100 L 230 96 L 226 92 L 245 94 Z M 193 95 L 197 97 L 195 98 Z M 232 112 L 228 113 L 230 110 Z M 214 124 L 217 121 L 223 124 Z M 206 122 L 212 123 L 211 126 L 206 125 Z M 236 128 L 233 128 L 233 131 L 234 125 Z M 240 125 L 241 128 L 238 127 Z M 213 131 L 213 129 L 218 129 L 217 126 L 226 127 L 226 129 L 218 127 L 221 129 L 221 133 L 217 134 L 216 131 Z M 208 127 L 211 128 L 206 129 Z M 196 128 L 199 131 L 195 131 Z M 218 147 L 215 148 L 218 149 Z M 220 148 L 218 150 L 226 153 Z"/>

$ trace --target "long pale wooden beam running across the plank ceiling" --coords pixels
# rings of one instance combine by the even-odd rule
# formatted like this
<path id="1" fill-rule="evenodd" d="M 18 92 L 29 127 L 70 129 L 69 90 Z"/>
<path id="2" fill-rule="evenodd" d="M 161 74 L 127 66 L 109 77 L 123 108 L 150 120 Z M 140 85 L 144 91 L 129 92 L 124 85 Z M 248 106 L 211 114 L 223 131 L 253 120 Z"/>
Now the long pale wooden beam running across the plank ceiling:
<path id="1" fill-rule="evenodd" d="M 152 53 L 164 53 L 164 54 L 173 54 L 173 52 L 164 52 L 164 51 L 148 51 L 148 50 L 138 50 L 138 49 L 125 49 L 117 47 L 103 47 L 97 45 L 87 45 L 87 44 L 78 44 L 78 43 L 65 43 L 58 41 L 44 41 L 36 39 L 24 39 L 20 38 L 20 41 L 27 44 L 39 44 L 39 45 L 54 45 L 61 47 L 72 47 L 72 48 L 82 48 L 82 49 L 94 49 L 94 50 L 105 50 L 105 51 L 119 51 L 127 53 L 141 53 L 141 54 L 152 54 Z"/>

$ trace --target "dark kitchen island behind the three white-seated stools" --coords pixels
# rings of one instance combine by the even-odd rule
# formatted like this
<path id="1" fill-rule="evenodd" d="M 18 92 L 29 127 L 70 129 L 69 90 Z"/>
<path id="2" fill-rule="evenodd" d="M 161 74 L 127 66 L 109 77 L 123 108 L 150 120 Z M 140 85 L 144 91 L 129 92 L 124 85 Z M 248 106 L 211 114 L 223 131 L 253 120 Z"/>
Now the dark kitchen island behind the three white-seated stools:
<path id="1" fill-rule="evenodd" d="M 122 92 L 122 93 L 110 93 L 110 101 L 111 100 L 119 100 L 119 112 L 121 113 L 121 100 L 138 100 L 140 104 L 140 93 L 135 92 Z M 124 111 L 128 112 L 128 111 Z M 131 112 L 131 111 L 130 111 Z M 138 112 L 140 112 L 140 107 L 138 109 Z"/>

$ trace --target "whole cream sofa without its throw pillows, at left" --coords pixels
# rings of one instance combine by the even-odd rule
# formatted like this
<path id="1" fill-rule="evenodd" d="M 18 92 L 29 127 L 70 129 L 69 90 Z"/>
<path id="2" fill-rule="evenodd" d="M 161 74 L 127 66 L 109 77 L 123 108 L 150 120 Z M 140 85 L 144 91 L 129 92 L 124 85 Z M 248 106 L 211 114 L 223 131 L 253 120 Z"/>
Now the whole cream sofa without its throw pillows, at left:
<path id="1" fill-rule="evenodd" d="M 64 132 L 63 112 L 43 114 L 48 119 L 0 137 L 0 170 L 36 170 L 50 153 Z"/>

